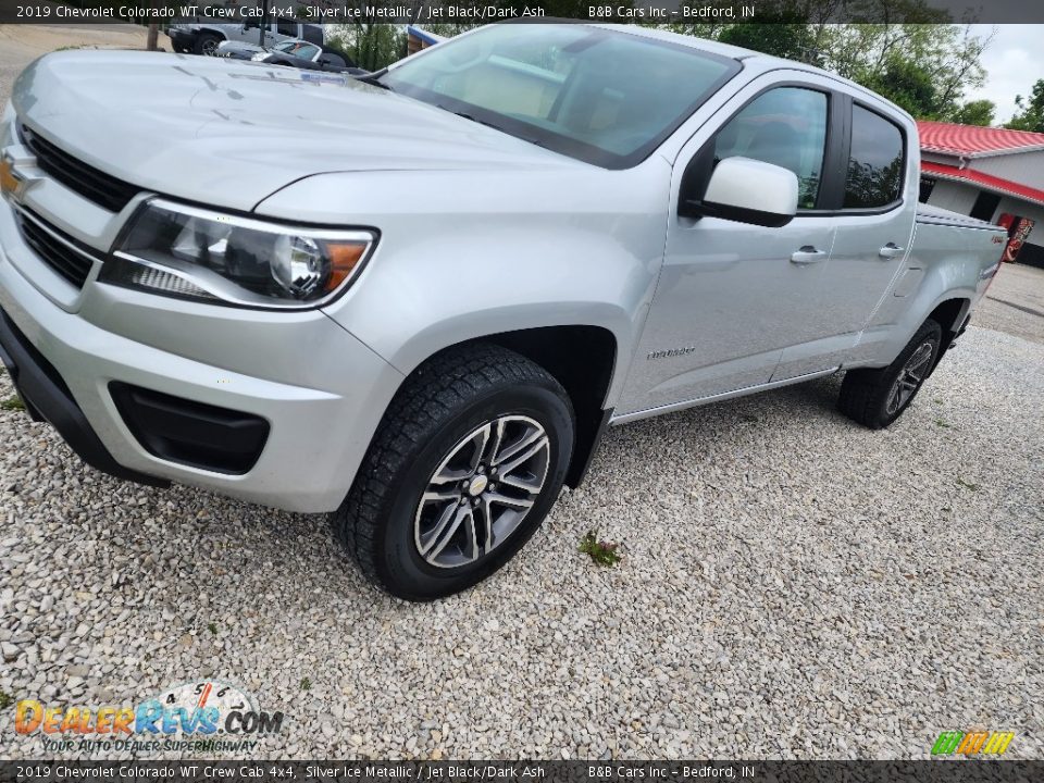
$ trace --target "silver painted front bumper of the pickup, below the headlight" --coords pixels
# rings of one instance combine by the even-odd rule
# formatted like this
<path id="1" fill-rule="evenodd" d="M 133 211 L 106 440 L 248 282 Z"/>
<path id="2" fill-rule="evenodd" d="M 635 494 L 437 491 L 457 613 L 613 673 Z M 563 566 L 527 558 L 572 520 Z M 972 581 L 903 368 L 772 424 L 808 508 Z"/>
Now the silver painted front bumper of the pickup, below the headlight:
<path id="1" fill-rule="evenodd" d="M 340 505 L 398 371 L 319 311 L 183 302 L 96 277 L 97 269 L 75 295 L 24 243 L 0 200 L 0 343 L 28 406 L 86 462 L 291 511 Z M 62 285 L 70 291 L 55 290 Z M 263 419 L 259 459 L 228 474 L 150 452 L 113 399 L 121 384 Z"/>

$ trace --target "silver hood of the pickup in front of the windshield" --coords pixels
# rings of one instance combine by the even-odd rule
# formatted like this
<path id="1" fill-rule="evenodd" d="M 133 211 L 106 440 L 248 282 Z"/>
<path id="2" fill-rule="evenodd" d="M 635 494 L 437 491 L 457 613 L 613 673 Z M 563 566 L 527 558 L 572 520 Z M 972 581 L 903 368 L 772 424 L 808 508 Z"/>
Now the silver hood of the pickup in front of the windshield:
<path id="1" fill-rule="evenodd" d="M 238 210 L 320 173 L 586 165 L 344 74 L 225 58 L 55 52 L 12 101 L 103 172 Z"/>

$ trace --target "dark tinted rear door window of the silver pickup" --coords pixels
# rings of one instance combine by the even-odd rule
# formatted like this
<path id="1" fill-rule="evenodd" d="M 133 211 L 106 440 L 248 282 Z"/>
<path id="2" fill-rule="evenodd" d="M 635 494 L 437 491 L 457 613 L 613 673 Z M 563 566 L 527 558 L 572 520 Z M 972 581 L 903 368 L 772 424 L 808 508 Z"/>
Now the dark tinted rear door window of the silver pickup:
<path id="1" fill-rule="evenodd" d="M 844 208 L 873 209 L 895 203 L 902 192 L 904 169 L 899 126 L 854 104 Z"/>

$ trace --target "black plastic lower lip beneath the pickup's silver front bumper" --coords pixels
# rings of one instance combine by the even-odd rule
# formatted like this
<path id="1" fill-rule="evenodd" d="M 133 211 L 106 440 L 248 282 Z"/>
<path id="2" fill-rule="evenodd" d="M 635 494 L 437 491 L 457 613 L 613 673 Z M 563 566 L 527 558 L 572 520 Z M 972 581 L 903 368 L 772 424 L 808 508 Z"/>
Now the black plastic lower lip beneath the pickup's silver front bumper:
<path id="1" fill-rule="evenodd" d="M 91 468 L 149 486 L 167 487 L 170 482 L 124 468 L 109 453 L 58 370 L 26 339 L 11 318 L 0 310 L 0 355 L 18 395 L 34 418 L 58 430 L 70 448 Z"/>

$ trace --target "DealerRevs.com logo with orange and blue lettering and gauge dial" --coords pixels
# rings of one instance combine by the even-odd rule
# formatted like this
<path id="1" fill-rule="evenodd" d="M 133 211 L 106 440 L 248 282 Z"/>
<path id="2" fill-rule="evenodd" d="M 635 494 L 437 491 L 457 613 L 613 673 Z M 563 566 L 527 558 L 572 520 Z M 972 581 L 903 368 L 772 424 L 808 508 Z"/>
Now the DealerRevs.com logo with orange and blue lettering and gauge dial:
<path id="1" fill-rule="evenodd" d="M 164 688 L 138 705 L 15 706 L 14 729 L 54 750 L 252 750 L 283 729 L 283 712 L 258 709 L 232 683 L 201 680 Z"/>

